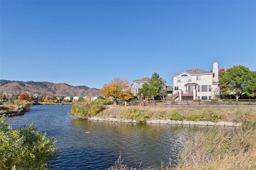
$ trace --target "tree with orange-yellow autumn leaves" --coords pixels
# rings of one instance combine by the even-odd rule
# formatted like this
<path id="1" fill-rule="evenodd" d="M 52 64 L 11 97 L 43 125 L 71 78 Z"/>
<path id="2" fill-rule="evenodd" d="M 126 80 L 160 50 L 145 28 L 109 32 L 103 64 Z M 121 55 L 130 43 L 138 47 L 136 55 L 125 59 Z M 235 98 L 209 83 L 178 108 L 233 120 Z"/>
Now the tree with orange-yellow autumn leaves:
<path id="1" fill-rule="evenodd" d="M 128 100 L 133 98 L 128 81 L 120 77 L 114 78 L 114 80 L 108 84 L 104 84 L 100 92 L 103 93 L 105 97 L 111 97 L 114 100 L 114 105 L 116 105 L 117 99 Z"/>

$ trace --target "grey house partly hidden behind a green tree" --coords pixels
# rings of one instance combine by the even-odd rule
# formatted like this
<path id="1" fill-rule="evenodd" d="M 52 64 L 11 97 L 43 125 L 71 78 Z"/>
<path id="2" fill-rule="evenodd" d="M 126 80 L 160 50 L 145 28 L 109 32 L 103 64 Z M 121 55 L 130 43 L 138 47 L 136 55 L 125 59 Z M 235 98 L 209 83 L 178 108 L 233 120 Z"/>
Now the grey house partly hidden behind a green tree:
<path id="1" fill-rule="evenodd" d="M 149 79 L 149 77 L 144 76 L 142 79 L 132 81 L 130 87 L 133 97 L 138 97 L 139 89 L 142 88 L 142 85 L 144 83 L 147 83 Z M 164 79 L 161 80 L 161 83 L 164 84 L 164 86 L 166 86 L 166 81 Z M 166 86 L 166 90 L 168 95 L 172 94 L 173 89 L 171 86 Z"/>

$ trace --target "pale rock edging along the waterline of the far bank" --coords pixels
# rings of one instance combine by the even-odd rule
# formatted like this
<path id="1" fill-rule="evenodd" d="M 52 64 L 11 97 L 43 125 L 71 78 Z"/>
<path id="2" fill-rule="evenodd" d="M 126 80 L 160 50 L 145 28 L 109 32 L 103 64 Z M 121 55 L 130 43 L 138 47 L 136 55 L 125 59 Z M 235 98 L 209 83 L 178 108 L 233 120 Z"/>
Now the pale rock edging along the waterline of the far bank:
<path id="1" fill-rule="evenodd" d="M 116 118 L 98 118 L 90 117 L 88 120 L 94 121 L 111 121 L 111 122 L 129 122 L 137 123 L 135 120 L 131 119 L 116 119 Z M 159 124 L 178 124 L 178 125 L 206 125 L 206 126 L 228 126 L 228 127 L 240 127 L 242 123 L 232 123 L 232 122 L 204 122 L 204 121 L 172 121 L 172 120 L 149 120 L 146 123 L 159 123 Z"/>

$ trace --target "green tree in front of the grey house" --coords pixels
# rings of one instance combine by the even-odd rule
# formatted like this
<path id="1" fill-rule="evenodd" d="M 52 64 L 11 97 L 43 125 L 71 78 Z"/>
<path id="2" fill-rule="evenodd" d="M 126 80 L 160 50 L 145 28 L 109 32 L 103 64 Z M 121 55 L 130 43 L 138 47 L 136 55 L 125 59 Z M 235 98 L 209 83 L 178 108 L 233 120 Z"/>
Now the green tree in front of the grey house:
<path id="1" fill-rule="evenodd" d="M 161 82 L 162 77 L 156 72 L 152 74 L 152 77 L 148 80 L 148 83 L 144 83 L 142 88 L 139 89 L 138 95 L 147 93 L 149 96 L 159 97 L 163 95 L 167 96 L 165 84 Z"/>

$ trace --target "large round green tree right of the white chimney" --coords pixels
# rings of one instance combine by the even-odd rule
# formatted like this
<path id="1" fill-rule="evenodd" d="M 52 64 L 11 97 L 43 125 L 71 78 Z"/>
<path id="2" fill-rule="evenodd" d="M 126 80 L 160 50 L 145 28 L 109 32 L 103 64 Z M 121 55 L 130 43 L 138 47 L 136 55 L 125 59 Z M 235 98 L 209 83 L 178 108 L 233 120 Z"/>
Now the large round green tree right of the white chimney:
<path id="1" fill-rule="evenodd" d="M 226 71 L 222 71 L 219 77 L 219 83 L 222 85 L 224 95 L 234 93 L 236 100 L 243 94 L 248 94 L 248 67 L 244 65 L 234 65 Z"/>

